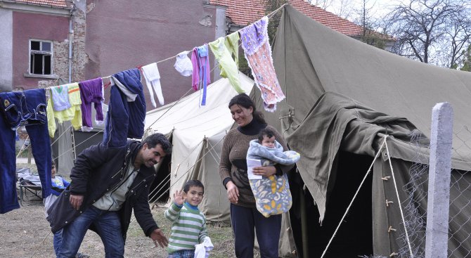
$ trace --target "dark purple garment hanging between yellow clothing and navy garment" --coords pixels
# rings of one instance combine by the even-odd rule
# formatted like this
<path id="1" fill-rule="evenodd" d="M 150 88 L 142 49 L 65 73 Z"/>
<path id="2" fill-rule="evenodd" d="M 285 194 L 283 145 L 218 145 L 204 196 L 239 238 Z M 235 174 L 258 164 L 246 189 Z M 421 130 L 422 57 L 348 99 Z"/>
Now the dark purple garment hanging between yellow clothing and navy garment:
<path id="1" fill-rule="evenodd" d="M 82 125 L 84 127 L 93 128 L 91 122 L 91 103 L 95 103 L 96 121 L 103 122 L 103 80 L 101 78 L 89 79 L 88 81 L 79 82 L 80 98 L 82 99 Z"/>

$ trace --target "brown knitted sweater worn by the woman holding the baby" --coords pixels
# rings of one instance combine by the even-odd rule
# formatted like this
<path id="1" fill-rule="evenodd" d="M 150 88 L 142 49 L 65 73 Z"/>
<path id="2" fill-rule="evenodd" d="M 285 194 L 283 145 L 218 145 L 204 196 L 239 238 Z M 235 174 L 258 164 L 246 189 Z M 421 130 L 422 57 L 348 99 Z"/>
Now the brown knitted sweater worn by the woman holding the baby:
<path id="1" fill-rule="evenodd" d="M 285 139 L 270 125 L 266 126 L 275 132 L 275 138 L 278 143 L 283 146 L 283 150 L 288 150 Z M 258 132 L 257 132 L 258 134 Z M 250 141 L 257 138 L 257 134 L 246 135 L 241 133 L 237 128 L 231 129 L 224 138 L 221 151 L 221 161 L 219 162 L 219 175 L 221 181 L 230 177 L 233 183 L 239 189 L 239 198 L 237 205 L 243 207 L 255 207 L 255 198 L 250 182 L 247 177 L 247 150 Z M 280 166 L 283 172 L 288 172 L 293 165 Z"/>

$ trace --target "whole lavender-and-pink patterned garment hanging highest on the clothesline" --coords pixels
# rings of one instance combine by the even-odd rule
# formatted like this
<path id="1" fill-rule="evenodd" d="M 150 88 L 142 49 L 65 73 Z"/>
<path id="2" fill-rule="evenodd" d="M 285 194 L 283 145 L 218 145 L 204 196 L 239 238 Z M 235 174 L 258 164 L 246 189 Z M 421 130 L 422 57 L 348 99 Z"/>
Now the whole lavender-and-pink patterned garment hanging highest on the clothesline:
<path id="1" fill-rule="evenodd" d="M 276 78 L 273 58 L 271 58 L 271 47 L 268 43 L 268 18 L 261 20 L 240 30 L 240 39 L 244 49 L 244 56 L 252 70 L 255 85 L 262 92 L 264 108 L 266 111 L 274 112 L 276 103 L 285 98 L 280 84 Z"/>

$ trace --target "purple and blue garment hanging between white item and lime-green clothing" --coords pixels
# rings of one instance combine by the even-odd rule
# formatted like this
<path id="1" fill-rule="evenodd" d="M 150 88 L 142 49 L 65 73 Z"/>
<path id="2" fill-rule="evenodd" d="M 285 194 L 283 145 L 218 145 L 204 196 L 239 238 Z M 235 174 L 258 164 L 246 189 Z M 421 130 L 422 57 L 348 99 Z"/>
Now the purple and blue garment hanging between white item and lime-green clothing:
<path id="1" fill-rule="evenodd" d="M 201 105 L 206 105 L 207 84 L 211 83 L 208 54 L 207 44 L 195 47 L 191 53 L 191 63 L 193 64 L 191 86 L 195 91 L 202 87 Z"/>

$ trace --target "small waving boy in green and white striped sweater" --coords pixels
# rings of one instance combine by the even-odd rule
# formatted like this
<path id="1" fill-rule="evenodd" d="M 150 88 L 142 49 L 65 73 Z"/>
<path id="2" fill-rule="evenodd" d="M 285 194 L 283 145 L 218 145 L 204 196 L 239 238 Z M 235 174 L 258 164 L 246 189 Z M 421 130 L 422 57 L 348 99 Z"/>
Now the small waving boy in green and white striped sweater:
<path id="1" fill-rule="evenodd" d="M 185 183 L 182 191 L 174 193 L 174 202 L 165 211 L 165 217 L 172 221 L 172 233 L 167 252 L 169 258 L 192 258 L 195 245 L 207 237 L 206 217 L 198 209 L 205 186 L 198 180 Z"/>

